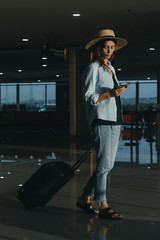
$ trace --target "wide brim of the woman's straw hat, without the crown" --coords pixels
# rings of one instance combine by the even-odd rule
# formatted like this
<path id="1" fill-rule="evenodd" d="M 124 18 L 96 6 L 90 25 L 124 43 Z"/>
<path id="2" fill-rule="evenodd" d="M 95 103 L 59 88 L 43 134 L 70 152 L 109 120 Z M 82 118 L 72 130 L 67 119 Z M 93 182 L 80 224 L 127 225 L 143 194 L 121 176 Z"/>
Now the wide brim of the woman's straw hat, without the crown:
<path id="1" fill-rule="evenodd" d="M 128 41 L 124 38 L 118 38 L 118 37 L 112 37 L 112 36 L 106 36 L 105 37 L 104 36 L 104 37 L 96 38 L 96 39 L 90 41 L 89 43 L 87 43 L 86 50 L 91 49 L 91 47 L 93 47 L 96 43 L 98 43 L 99 41 L 104 40 L 104 39 L 116 40 L 116 45 L 115 45 L 115 50 L 114 51 L 117 51 L 117 50 L 125 47 L 128 43 Z"/>

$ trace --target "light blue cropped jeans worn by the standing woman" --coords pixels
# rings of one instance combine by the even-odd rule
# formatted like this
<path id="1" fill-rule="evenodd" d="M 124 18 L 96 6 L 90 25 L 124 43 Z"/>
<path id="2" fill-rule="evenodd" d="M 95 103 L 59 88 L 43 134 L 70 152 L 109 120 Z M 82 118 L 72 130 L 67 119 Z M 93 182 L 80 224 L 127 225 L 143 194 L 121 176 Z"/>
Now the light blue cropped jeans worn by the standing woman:
<path id="1" fill-rule="evenodd" d="M 106 201 L 107 174 L 113 168 L 120 135 L 120 126 L 100 125 L 94 128 L 97 165 L 84 191 L 96 201 Z"/>

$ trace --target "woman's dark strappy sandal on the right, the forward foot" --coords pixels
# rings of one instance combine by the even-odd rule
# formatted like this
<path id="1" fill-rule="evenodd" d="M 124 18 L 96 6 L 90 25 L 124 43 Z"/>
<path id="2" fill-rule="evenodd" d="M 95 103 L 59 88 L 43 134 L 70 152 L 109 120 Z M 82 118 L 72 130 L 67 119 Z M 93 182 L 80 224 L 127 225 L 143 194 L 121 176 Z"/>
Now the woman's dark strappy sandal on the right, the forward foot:
<path id="1" fill-rule="evenodd" d="M 118 212 L 113 211 L 113 209 L 110 207 L 100 209 L 99 217 L 108 218 L 108 219 L 112 219 L 112 220 L 121 220 L 122 219 L 122 216 Z"/>

